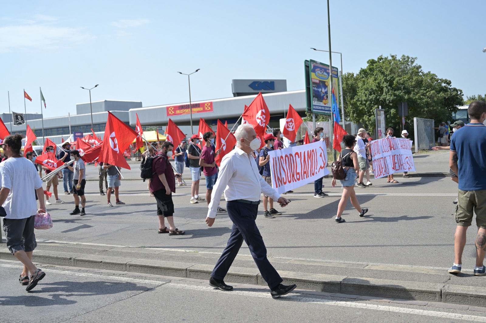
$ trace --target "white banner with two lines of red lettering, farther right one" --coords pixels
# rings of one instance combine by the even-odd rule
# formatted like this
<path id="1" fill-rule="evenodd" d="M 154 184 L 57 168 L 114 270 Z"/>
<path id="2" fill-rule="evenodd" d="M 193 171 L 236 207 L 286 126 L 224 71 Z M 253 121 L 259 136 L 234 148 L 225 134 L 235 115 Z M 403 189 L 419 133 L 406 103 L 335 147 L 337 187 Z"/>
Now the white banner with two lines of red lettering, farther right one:
<path id="1" fill-rule="evenodd" d="M 383 138 L 371 141 L 375 178 L 400 171 L 415 171 L 412 156 L 412 140 L 406 138 Z"/>

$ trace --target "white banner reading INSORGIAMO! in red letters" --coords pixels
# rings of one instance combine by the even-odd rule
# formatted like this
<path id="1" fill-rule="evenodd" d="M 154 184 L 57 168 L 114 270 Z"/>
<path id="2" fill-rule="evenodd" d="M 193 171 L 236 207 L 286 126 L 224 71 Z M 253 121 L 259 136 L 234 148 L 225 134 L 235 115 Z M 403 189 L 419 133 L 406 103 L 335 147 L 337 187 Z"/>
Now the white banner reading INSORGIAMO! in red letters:
<path id="1" fill-rule="evenodd" d="M 272 187 L 284 193 L 329 174 L 326 143 L 322 140 L 268 152 Z"/>

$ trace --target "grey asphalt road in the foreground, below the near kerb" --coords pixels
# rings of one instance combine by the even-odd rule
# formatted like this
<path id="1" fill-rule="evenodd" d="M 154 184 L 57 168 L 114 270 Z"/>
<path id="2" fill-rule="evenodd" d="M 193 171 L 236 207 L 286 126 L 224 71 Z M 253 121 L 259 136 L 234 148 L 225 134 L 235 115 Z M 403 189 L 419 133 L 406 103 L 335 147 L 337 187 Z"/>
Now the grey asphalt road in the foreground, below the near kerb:
<path id="1" fill-rule="evenodd" d="M 0 322 L 486 322 L 469 306 L 361 300 L 295 290 L 272 299 L 267 288 L 140 274 L 46 268 L 31 292 L 15 278 L 20 266 L 0 261 Z M 8 277 L 8 278 L 6 278 Z M 417 305 L 414 305 L 417 304 Z M 450 308 L 447 308 L 450 307 Z"/>

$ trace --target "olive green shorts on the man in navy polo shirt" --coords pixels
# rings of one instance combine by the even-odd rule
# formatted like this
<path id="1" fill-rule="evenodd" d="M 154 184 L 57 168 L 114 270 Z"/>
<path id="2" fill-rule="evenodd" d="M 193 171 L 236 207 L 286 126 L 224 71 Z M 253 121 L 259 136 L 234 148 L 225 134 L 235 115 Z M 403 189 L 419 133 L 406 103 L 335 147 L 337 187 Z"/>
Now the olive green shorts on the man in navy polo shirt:
<path id="1" fill-rule="evenodd" d="M 470 226 L 474 213 L 476 213 L 476 225 L 486 229 L 486 190 L 459 189 L 455 211 L 457 225 Z"/>

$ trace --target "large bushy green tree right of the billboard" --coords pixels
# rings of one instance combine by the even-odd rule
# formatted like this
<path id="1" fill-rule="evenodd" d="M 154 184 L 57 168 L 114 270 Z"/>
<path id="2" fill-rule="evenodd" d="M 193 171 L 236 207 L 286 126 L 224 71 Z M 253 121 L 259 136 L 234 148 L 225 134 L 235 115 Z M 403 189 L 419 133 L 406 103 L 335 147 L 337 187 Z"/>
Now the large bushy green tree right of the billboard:
<path id="1" fill-rule="evenodd" d="M 411 129 L 413 118 L 451 120 L 456 105 L 463 102 L 462 90 L 451 86 L 451 81 L 424 72 L 416 64 L 417 58 L 402 55 L 379 56 L 367 61 L 359 73 L 343 76 L 345 114 L 350 121 L 363 123 L 364 128 L 375 128 L 375 109 L 380 105 L 386 112 L 386 126 L 400 128 L 398 104 L 408 102 L 406 128 Z"/>

